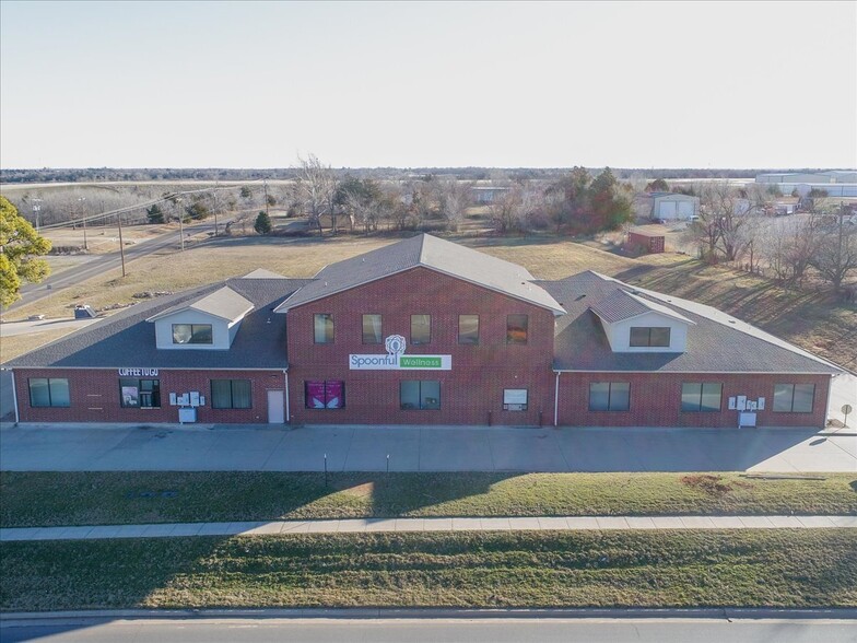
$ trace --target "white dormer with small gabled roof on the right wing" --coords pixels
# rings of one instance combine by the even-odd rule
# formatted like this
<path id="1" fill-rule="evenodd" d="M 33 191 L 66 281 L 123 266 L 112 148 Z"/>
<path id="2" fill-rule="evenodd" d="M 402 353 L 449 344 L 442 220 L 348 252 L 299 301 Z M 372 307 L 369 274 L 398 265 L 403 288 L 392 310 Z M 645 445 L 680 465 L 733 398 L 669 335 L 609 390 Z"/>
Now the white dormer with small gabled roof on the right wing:
<path id="1" fill-rule="evenodd" d="M 693 322 L 661 304 L 615 290 L 589 307 L 615 353 L 683 353 Z"/>

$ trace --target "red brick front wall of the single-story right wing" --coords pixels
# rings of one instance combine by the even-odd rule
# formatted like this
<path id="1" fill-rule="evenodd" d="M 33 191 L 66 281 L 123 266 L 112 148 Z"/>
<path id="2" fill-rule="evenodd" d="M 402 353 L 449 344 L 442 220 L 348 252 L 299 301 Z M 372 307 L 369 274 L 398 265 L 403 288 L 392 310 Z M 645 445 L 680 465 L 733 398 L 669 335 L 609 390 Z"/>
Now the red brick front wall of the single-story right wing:
<path id="1" fill-rule="evenodd" d="M 591 382 L 627 382 L 631 385 L 629 411 L 590 411 Z M 684 382 L 723 384 L 720 412 L 682 412 L 681 385 Z M 814 384 L 811 413 L 774 412 L 775 384 Z M 572 426 L 737 426 L 738 411 L 728 409 L 729 398 L 746 395 L 765 398 L 765 410 L 758 411 L 759 426 L 824 426 L 827 409 L 829 375 L 716 375 L 711 373 L 563 373 L 560 376 L 560 425 Z M 551 418 L 553 420 L 553 418 Z"/>

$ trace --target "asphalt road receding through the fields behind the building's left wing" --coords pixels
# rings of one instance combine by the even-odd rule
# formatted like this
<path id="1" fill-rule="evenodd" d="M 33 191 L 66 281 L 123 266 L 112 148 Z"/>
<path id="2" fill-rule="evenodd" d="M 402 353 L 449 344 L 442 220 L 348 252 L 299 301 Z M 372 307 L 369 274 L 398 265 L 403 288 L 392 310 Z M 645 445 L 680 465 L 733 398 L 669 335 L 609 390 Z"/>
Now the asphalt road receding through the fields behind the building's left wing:
<path id="1" fill-rule="evenodd" d="M 220 222 L 219 227 L 223 229 L 227 223 L 227 220 Z M 214 230 L 213 223 L 199 223 L 197 225 L 186 225 L 185 226 L 185 236 L 191 236 L 195 234 L 200 234 L 209 231 Z M 157 250 L 174 246 L 178 248 L 179 245 L 179 237 L 178 232 L 169 232 L 167 234 L 163 234 L 161 236 L 156 236 L 151 239 L 146 239 L 144 242 L 140 242 L 132 246 L 127 246 L 125 249 L 125 262 L 126 265 L 134 259 L 139 259 L 141 257 L 145 257 L 146 255 L 151 255 L 152 253 L 156 253 Z M 121 255 L 119 252 L 109 253 L 106 255 L 93 255 L 92 260 L 86 261 L 85 264 L 81 264 L 74 268 L 69 268 L 68 270 L 63 270 L 62 272 L 58 272 L 51 277 L 48 277 L 42 283 L 27 283 L 21 289 L 21 299 L 12 304 L 11 306 L 7 307 L 7 311 L 14 311 L 19 306 L 23 306 L 24 304 L 28 304 L 32 302 L 36 302 L 40 299 L 44 299 L 50 294 L 54 294 L 57 291 L 62 289 L 69 288 L 81 281 L 85 281 L 92 277 L 97 277 L 110 270 L 113 268 L 118 268 L 122 265 Z"/>

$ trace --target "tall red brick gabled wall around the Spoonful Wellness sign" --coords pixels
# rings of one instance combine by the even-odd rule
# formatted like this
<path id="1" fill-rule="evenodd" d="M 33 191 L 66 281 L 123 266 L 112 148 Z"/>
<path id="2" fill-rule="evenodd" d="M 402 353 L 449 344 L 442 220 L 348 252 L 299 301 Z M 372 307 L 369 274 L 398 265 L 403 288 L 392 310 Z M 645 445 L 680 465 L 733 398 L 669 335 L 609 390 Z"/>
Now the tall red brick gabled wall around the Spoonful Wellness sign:
<path id="1" fill-rule="evenodd" d="M 333 315 L 334 342 L 316 344 L 313 316 Z M 386 354 L 363 344 L 363 314 L 383 315 L 383 337 L 401 335 L 406 354 L 450 354 L 451 371 L 351 371 L 350 353 Z M 432 315 L 432 341 L 411 346 L 412 314 Z M 458 315 L 479 315 L 479 346 L 458 343 Z M 506 315 L 529 315 L 526 346 L 506 344 Z M 296 423 L 494 424 L 544 423 L 553 409 L 553 313 L 481 287 L 414 268 L 289 312 L 289 381 Z M 306 409 L 304 381 L 341 379 L 345 409 Z M 441 382 L 439 410 L 401 410 L 402 379 Z M 527 411 L 503 411 L 504 388 L 528 388 Z"/>

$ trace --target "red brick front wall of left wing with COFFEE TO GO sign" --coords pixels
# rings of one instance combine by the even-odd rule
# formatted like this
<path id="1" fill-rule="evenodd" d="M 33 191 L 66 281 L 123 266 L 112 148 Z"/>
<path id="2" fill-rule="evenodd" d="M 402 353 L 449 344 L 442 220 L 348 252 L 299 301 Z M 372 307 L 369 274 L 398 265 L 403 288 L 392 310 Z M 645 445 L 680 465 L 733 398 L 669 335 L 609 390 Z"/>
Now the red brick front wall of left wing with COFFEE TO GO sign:
<path id="1" fill-rule="evenodd" d="M 141 364 L 145 366 L 145 364 Z M 159 372 L 161 408 L 122 408 L 116 369 L 15 369 L 15 390 L 22 422 L 178 422 L 178 407 L 169 406 L 169 393 L 198 390 L 206 406 L 197 410 L 201 423 L 255 423 L 268 421 L 268 389 L 284 389 L 282 371 L 167 371 Z M 66 377 L 71 407 L 31 408 L 31 377 Z M 250 379 L 253 408 L 212 409 L 211 379 Z"/>

